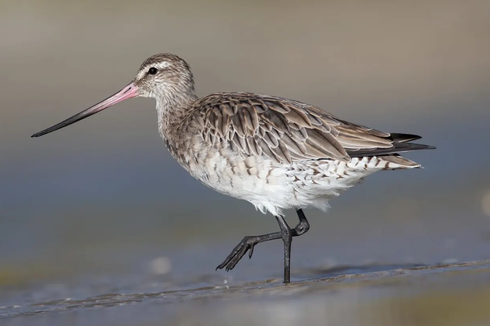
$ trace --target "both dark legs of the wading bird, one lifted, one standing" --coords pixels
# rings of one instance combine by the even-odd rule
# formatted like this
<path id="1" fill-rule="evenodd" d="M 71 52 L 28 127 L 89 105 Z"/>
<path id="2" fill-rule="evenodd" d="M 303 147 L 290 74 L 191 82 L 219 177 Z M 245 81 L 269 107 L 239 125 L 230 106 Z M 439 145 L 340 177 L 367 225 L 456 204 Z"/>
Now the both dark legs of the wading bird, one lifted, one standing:
<path id="1" fill-rule="evenodd" d="M 225 268 L 226 271 L 232 270 L 236 264 L 248 253 L 248 258 L 252 258 L 254 247 L 261 242 L 283 239 L 284 242 L 284 283 L 290 281 L 290 262 L 291 262 L 291 242 L 292 237 L 298 237 L 305 234 L 310 229 L 310 224 L 306 219 L 303 210 L 296 211 L 299 218 L 299 223 L 294 229 L 289 228 L 283 217 L 277 217 L 277 222 L 281 229 L 280 232 L 273 232 L 263 235 L 247 236 L 231 251 L 226 259 L 216 269 Z"/>

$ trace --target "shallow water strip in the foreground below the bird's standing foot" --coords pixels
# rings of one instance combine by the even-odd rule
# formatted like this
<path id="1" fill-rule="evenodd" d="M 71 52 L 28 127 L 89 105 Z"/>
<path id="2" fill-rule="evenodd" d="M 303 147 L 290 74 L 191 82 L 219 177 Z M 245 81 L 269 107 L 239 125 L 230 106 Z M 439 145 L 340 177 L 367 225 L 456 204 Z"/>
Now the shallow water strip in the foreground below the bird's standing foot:
<path id="1" fill-rule="evenodd" d="M 485 325 L 490 261 L 433 266 L 366 265 L 278 279 L 180 288 L 155 278 L 124 291 L 0 307 L 2 325 Z M 110 285 L 92 284 L 95 292 Z M 54 285 L 53 285 L 54 286 Z M 73 286 L 73 285 L 72 285 Z M 140 291 L 142 287 L 152 291 Z M 84 285 L 86 291 L 87 284 Z M 172 289 L 174 288 L 174 289 Z M 172 289 L 172 290 L 171 290 Z M 42 291 L 41 289 L 39 289 Z M 73 293 L 73 292 L 72 292 Z"/>

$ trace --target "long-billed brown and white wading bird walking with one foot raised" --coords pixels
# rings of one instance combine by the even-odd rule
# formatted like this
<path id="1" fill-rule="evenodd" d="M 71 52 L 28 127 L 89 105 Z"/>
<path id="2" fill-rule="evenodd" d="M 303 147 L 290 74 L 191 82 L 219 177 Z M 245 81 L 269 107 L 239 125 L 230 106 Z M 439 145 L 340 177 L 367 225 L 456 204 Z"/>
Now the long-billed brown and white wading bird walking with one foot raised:
<path id="1" fill-rule="evenodd" d="M 31 137 L 40 137 L 130 98 L 156 100 L 158 131 L 170 154 L 207 187 L 270 213 L 279 231 L 245 236 L 216 267 L 232 270 L 257 244 L 282 240 L 283 283 L 290 283 L 291 243 L 310 229 L 303 210 L 329 201 L 383 170 L 421 168 L 400 153 L 435 149 L 420 136 L 348 122 L 292 99 L 249 92 L 199 98 L 187 62 L 175 54 L 146 59 L 119 92 Z M 291 228 L 285 210 L 299 222 Z"/>

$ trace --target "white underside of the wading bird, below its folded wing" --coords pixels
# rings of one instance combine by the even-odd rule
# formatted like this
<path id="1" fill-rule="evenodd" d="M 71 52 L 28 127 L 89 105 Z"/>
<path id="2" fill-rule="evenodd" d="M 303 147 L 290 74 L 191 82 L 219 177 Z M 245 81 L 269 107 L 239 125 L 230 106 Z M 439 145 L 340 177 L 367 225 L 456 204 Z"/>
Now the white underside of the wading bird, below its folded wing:
<path id="1" fill-rule="evenodd" d="M 187 169 L 206 186 L 247 200 L 262 213 L 273 215 L 307 206 L 326 210 L 330 198 L 385 167 L 375 157 L 354 158 L 347 163 L 305 160 L 279 164 L 264 157 L 228 154 L 208 151 L 206 157 L 199 157 L 204 164 L 191 163 Z"/>

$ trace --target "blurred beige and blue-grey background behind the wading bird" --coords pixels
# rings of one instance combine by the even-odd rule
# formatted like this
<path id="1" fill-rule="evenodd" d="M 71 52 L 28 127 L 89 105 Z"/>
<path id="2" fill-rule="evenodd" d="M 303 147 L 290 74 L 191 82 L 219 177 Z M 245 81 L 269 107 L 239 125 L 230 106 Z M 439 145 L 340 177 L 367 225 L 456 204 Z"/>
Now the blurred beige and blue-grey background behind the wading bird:
<path id="1" fill-rule="evenodd" d="M 191 65 L 199 96 L 293 98 L 437 146 L 406 155 L 423 170 L 376 174 L 329 213 L 306 211 L 295 280 L 489 258 L 489 14 L 483 0 L 0 0 L 0 306 L 282 277 L 280 242 L 214 272 L 277 224 L 180 168 L 154 101 L 30 138 L 159 52 Z"/>

